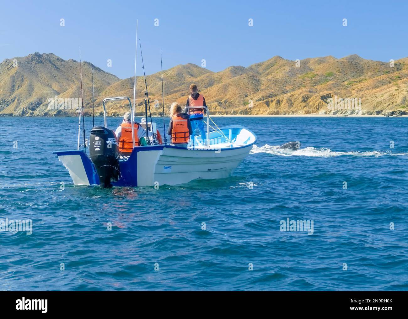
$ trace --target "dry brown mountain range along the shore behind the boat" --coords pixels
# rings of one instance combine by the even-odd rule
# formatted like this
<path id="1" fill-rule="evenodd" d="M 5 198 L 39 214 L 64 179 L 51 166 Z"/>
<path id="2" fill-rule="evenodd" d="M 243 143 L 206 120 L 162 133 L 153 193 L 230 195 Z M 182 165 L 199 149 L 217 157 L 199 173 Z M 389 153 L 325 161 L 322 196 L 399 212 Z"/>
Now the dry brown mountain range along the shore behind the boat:
<path id="1" fill-rule="evenodd" d="M 106 97 L 128 96 L 133 101 L 134 78 L 119 79 L 82 62 L 84 108 L 92 112 L 92 69 L 95 112 L 103 114 Z M 204 95 L 210 114 L 406 114 L 408 58 L 391 62 L 349 55 L 291 61 L 279 56 L 248 67 L 230 66 L 212 72 L 195 64 L 163 70 L 164 104 L 184 106 L 191 83 Z M 144 114 L 144 78 L 137 77 L 137 115 Z M 161 73 L 146 76 L 153 115 L 162 114 Z M 0 115 L 75 116 L 74 109 L 55 107 L 58 97 L 81 98 L 80 64 L 53 53 L 33 53 L 0 64 Z M 330 109 L 330 101 L 361 99 L 361 109 Z M 64 100 L 62 100 L 64 99 Z M 331 100 L 333 99 L 333 100 Z M 356 103 L 357 105 L 357 103 Z M 51 107 L 50 107 L 51 106 Z M 109 115 L 127 111 L 124 103 L 108 103 Z M 167 111 L 166 111 L 167 112 Z"/>

